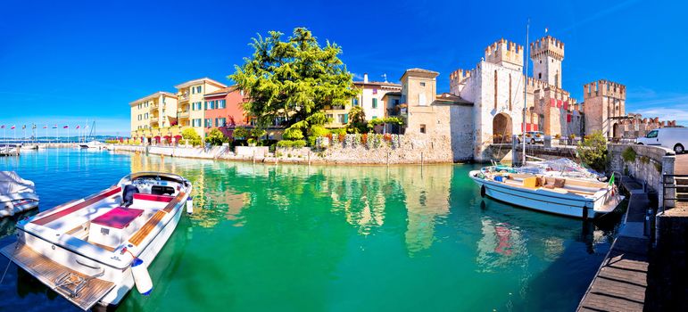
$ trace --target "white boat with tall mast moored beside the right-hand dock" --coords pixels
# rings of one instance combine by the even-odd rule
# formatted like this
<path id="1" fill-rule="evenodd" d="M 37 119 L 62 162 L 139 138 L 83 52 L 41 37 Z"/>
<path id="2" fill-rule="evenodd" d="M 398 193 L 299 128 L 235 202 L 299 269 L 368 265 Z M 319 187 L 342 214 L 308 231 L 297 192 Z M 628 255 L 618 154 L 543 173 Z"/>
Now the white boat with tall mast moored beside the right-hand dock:
<path id="1" fill-rule="evenodd" d="M 589 179 L 498 172 L 491 167 L 468 176 L 480 186 L 482 196 L 568 217 L 595 218 L 624 200 L 615 185 Z"/>

